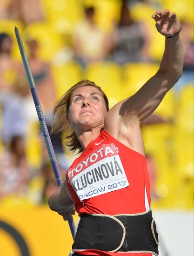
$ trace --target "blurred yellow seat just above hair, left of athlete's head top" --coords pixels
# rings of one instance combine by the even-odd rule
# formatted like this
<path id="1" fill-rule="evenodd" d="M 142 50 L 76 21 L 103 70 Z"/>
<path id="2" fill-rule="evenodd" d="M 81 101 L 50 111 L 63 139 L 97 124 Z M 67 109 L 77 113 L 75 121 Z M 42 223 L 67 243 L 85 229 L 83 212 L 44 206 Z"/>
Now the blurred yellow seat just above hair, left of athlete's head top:
<path id="1" fill-rule="evenodd" d="M 63 65 L 53 65 L 52 74 L 56 84 L 56 98 L 58 99 L 81 80 L 81 67 L 75 61 Z"/>

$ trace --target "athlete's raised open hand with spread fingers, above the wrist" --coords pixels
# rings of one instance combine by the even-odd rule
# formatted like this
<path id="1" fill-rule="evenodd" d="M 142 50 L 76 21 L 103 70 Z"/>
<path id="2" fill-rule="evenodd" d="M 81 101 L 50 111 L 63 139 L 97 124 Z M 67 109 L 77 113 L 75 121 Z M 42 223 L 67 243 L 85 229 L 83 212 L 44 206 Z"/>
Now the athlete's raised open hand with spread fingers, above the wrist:
<path id="1" fill-rule="evenodd" d="M 171 37 L 178 33 L 181 29 L 180 21 L 178 20 L 176 13 L 170 13 L 168 9 L 164 12 L 158 10 L 152 15 L 152 18 L 156 22 L 156 28 L 159 33 L 166 37 Z"/>

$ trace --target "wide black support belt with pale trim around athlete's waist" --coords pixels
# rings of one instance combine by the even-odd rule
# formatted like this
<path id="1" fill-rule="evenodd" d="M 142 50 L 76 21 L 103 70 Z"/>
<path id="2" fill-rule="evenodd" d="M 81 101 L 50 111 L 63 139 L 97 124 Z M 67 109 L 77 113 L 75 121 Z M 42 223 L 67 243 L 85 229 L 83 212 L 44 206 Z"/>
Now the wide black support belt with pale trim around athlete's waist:
<path id="1" fill-rule="evenodd" d="M 149 252 L 158 255 L 158 233 L 151 210 L 140 215 L 83 214 L 73 250 Z"/>

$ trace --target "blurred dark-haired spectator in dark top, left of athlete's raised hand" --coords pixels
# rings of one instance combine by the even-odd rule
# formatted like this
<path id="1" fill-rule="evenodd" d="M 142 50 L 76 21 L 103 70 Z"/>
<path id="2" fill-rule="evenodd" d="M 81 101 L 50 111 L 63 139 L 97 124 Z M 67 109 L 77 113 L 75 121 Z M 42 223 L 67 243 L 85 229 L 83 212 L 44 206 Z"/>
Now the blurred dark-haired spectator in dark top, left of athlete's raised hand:
<path id="1" fill-rule="evenodd" d="M 115 29 L 116 47 L 112 60 L 118 64 L 125 62 L 150 61 L 148 46 L 149 31 L 143 22 L 134 22 L 130 16 L 127 0 L 123 0 L 120 23 Z"/>

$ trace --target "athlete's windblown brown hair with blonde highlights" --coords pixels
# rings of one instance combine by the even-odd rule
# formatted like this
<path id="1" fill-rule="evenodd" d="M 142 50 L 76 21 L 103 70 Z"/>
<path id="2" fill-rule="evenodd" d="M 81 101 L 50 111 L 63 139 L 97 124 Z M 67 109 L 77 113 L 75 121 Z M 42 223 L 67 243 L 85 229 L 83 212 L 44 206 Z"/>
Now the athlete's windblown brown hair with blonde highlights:
<path id="1" fill-rule="evenodd" d="M 89 80 L 81 80 L 78 83 L 76 83 L 74 86 L 69 88 L 65 94 L 56 102 L 54 106 L 53 111 L 53 125 L 52 125 L 52 133 L 60 133 L 62 134 L 63 138 L 67 139 L 67 146 L 69 147 L 70 151 L 75 152 L 75 150 L 78 150 L 78 153 L 83 151 L 83 148 L 81 147 L 80 141 L 78 140 L 73 128 L 71 127 L 72 131 L 70 135 L 65 135 L 65 131 L 67 131 L 68 124 L 66 120 L 66 115 L 69 112 L 69 106 L 71 102 L 71 97 L 74 92 L 79 87 L 83 86 L 92 86 L 94 88 L 97 88 L 100 90 L 101 94 L 103 95 L 107 111 L 109 109 L 108 107 L 108 99 L 106 94 L 101 90 L 99 86 L 97 86 L 94 82 Z M 54 121 L 55 119 L 55 121 Z"/>

